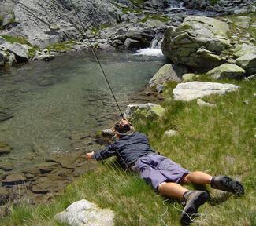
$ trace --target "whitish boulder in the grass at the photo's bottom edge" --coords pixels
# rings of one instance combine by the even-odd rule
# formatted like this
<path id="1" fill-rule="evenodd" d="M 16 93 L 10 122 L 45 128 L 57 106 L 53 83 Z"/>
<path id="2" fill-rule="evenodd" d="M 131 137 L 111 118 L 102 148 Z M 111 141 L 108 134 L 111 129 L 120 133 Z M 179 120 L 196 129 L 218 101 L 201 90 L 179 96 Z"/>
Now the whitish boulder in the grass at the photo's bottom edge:
<path id="1" fill-rule="evenodd" d="M 114 213 L 112 210 L 100 209 L 94 203 L 85 199 L 73 202 L 65 211 L 58 213 L 54 218 L 70 226 L 114 225 Z"/>

